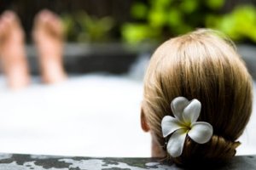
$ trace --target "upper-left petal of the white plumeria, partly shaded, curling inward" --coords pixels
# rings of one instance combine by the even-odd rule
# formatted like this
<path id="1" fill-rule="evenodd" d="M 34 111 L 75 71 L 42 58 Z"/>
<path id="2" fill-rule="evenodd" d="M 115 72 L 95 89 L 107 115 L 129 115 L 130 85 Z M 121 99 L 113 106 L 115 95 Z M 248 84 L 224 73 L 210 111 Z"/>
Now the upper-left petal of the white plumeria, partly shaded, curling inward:
<path id="1" fill-rule="evenodd" d="M 184 97 L 177 97 L 172 100 L 172 113 L 180 122 L 184 122 L 183 110 L 187 105 L 189 105 L 189 100 Z"/>

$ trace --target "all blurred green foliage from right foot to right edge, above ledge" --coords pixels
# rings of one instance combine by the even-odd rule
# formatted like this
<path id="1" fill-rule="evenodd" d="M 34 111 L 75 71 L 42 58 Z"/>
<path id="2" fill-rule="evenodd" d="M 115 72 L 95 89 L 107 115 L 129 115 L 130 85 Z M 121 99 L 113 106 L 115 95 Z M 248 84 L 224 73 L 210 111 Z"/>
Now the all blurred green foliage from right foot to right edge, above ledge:
<path id="1" fill-rule="evenodd" d="M 223 6 L 224 0 L 134 0 L 132 21 L 121 26 L 113 18 L 84 11 L 62 14 L 61 19 L 67 40 L 74 42 L 107 42 L 119 33 L 125 42 L 159 42 L 200 27 L 223 31 L 234 41 L 256 42 L 256 7 L 236 6 L 222 14 Z"/>

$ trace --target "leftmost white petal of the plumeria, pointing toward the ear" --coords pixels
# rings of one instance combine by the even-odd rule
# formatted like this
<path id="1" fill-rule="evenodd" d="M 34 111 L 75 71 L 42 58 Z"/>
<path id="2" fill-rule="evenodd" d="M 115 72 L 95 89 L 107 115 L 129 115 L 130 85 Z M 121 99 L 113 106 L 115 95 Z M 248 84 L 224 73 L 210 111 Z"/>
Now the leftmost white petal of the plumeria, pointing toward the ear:
<path id="1" fill-rule="evenodd" d="M 181 124 L 177 121 L 176 118 L 172 116 L 164 116 L 161 122 L 161 127 L 163 136 L 166 138 L 166 136 L 168 136 L 169 134 L 173 133 L 177 129 L 180 129 Z"/>

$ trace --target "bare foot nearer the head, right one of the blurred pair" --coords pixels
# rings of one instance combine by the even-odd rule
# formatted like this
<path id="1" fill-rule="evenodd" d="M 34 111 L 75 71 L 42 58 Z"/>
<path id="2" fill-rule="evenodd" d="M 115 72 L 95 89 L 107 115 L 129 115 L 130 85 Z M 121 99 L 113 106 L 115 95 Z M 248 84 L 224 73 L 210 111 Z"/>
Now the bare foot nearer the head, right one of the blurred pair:
<path id="1" fill-rule="evenodd" d="M 49 10 L 41 11 L 35 18 L 33 38 L 39 53 L 43 81 L 61 82 L 66 79 L 62 65 L 64 31 L 59 17 Z"/>

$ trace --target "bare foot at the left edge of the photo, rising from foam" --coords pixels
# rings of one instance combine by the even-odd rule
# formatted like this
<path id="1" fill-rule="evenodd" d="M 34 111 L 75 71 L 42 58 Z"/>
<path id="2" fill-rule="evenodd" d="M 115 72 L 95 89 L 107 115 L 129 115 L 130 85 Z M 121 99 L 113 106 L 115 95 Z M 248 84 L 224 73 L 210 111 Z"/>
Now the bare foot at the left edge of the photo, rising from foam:
<path id="1" fill-rule="evenodd" d="M 24 48 L 24 32 L 20 20 L 12 11 L 0 16 L 0 57 L 9 88 L 25 88 L 29 82 L 29 71 Z"/>

